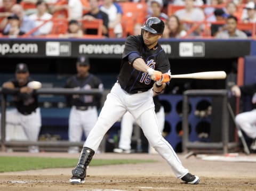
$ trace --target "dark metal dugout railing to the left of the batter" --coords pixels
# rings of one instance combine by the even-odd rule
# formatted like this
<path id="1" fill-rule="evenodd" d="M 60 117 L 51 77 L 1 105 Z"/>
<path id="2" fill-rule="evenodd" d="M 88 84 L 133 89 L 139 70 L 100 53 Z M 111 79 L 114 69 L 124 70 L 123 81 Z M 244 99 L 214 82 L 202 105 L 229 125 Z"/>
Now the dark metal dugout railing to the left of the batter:
<path id="1" fill-rule="evenodd" d="M 79 94 L 79 95 L 102 95 L 103 90 L 99 89 L 90 89 L 90 90 L 76 90 L 73 88 L 41 88 L 36 90 L 37 94 L 41 95 L 73 95 L 73 94 Z M 46 146 L 46 147 L 69 147 L 69 146 L 79 146 L 82 147 L 84 142 L 69 142 L 68 140 L 54 140 L 54 141 L 15 141 L 5 140 L 5 118 L 6 118 L 6 94 L 3 94 L 2 89 L 0 88 L 0 95 L 1 95 L 1 150 L 2 152 L 6 151 L 6 147 L 12 147 L 12 146 Z M 101 147 L 105 147 L 105 142 L 102 140 Z"/>

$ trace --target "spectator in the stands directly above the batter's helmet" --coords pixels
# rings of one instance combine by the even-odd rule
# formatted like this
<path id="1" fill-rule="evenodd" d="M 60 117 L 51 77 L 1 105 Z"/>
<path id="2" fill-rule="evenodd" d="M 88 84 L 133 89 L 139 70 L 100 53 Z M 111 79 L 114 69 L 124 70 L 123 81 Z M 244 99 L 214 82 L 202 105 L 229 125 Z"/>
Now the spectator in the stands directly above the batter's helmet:
<path id="1" fill-rule="evenodd" d="M 151 0 L 150 13 L 147 15 L 145 21 L 148 18 L 154 16 L 165 22 L 168 19 L 168 16 L 162 12 L 162 9 L 163 9 L 163 0 Z"/>

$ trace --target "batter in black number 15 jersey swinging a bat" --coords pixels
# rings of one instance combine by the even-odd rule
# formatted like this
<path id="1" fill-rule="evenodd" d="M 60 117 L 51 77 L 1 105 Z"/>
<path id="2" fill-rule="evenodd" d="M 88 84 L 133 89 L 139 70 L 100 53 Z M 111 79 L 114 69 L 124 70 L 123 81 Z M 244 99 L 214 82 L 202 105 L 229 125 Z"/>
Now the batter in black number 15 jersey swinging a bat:
<path id="1" fill-rule="evenodd" d="M 153 92 L 159 94 L 171 79 L 170 63 L 158 44 L 164 22 L 148 18 L 141 35 L 125 41 L 118 80 L 107 95 L 99 119 L 87 137 L 78 164 L 72 170 L 71 184 L 85 180 L 86 168 L 108 129 L 129 111 L 143 130 L 148 142 L 170 164 L 175 176 L 188 184 L 198 184 L 199 177 L 183 167 L 172 146 L 163 138 L 157 123 Z"/>

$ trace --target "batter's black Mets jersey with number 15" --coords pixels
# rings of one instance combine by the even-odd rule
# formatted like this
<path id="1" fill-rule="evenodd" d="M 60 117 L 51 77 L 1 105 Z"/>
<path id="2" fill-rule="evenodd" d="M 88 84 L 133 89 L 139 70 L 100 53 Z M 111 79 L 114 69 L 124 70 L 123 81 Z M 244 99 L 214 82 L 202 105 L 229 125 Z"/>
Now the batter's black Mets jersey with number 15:
<path id="1" fill-rule="evenodd" d="M 128 61 L 128 55 L 133 52 L 138 53 L 150 68 L 162 73 L 170 71 L 170 62 L 161 45 L 157 44 L 154 48 L 148 49 L 141 35 L 127 37 L 118 82 L 129 94 L 146 92 L 154 84 L 147 72 L 134 69 Z"/>

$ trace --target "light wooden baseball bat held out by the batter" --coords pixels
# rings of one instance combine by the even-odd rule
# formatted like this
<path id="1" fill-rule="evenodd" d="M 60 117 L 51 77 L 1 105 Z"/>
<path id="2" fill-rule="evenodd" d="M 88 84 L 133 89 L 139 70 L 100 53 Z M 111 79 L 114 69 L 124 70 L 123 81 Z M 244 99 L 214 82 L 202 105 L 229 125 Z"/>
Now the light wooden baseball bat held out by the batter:
<path id="1" fill-rule="evenodd" d="M 174 74 L 171 75 L 172 78 L 191 78 L 191 79 L 225 79 L 227 74 L 225 71 L 209 71 L 209 72 L 196 72 L 196 73 L 186 73 L 186 74 Z"/>

